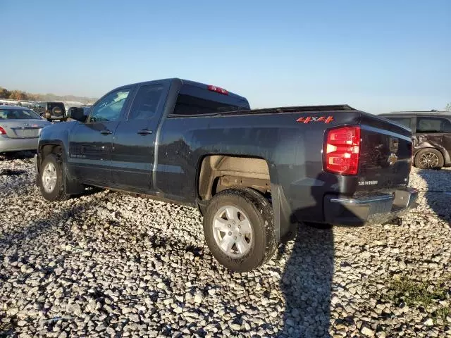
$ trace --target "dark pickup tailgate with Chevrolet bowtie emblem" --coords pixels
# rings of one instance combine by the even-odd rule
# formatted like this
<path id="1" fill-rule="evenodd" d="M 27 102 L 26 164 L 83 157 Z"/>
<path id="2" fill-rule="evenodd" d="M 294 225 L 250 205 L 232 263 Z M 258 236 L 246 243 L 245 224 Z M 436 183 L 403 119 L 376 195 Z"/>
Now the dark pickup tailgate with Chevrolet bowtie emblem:
<path id="1" fill-rule="evenodd" d="M 412 132 L 376 115 L 362 113 L 357 191 L 406 187 L 412 161 Z"/>

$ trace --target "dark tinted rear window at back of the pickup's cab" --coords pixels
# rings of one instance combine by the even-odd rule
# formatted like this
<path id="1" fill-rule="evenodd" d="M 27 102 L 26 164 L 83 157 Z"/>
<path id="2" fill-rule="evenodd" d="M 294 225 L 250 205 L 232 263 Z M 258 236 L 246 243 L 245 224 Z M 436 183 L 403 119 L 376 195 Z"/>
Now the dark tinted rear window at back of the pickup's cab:
<path id="1" fill-rule="evenodd" d="M 173 115 L 203 115 L 247 109 L 247 100 L 184 84 L 178 94 Z"/>

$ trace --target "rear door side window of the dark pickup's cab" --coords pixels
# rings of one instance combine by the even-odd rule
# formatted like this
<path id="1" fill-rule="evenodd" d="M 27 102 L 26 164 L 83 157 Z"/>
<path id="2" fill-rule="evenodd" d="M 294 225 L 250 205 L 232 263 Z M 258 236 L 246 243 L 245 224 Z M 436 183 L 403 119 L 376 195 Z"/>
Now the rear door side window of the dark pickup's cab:
<path id="1" fill-rule="evenodd" d="M 156 114 L 156 108 L 161 99 L 163 86 L 161 84 L 148 84 L 138 90 L 128 120 L 147 120 Z"/>

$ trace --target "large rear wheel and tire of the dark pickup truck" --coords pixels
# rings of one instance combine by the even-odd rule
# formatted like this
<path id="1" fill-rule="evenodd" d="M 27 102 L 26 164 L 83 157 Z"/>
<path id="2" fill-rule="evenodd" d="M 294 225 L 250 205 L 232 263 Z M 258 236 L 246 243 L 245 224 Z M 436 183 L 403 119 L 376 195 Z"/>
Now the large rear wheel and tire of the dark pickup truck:
<path id="1" fill-rule="evenodd" d="M 204 237 L 221 265 L 237 272 L 253 270 L 271 259 L 278 246 L 273 208 L 252 189 L 223 190 L 206 208 Z"/>

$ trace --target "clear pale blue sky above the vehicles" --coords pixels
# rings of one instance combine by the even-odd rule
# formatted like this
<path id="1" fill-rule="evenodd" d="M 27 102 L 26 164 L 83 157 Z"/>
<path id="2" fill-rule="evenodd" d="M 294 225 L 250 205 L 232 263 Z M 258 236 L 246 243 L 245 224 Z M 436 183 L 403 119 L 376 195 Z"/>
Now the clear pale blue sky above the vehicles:
<path id="1" fill-rule="evenodd" d="M 99 97 L 181 77 L 252 108 L 451 102 L 451 1 L 0 0 L 0 86 Z"/>

